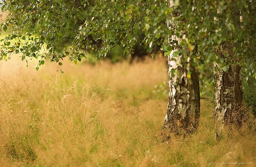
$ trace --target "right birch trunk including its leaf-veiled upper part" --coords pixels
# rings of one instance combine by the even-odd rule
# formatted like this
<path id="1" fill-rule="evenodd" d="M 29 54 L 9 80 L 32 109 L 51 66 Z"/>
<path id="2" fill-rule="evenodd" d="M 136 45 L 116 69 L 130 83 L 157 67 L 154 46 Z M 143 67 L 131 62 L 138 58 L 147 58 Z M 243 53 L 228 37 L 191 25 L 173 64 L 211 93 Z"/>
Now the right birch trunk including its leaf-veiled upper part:
<path id="1" fill-rule="evenodd" d="M 222 43 L 217 48 L 217 57 L 223 61 L 224 66 L 220 68 L 220 64 L 214 64 L 215 139 L 219 139 L 222 136 L 224 125 L 229 125 L 230 128 L 239 128 L 242 125 L 245 110 L 243 108 L 241 68 L 243 61 L 245 61 L 243 56 L 249 56 L 246 51 L 250 46 L 246 46 L 242 53 L 236 52 L 236 50 L 241 50 L 244 47 L 243 43 L 249 42 L 248 39 L 246 41 L 244 37 L 239 36 L 244 33 L 242 31 L 247 31 L 244 29 L 243 16 L 241 14 L 252 12 L 250 7 L 246 5 L 247 2 L 225 1 L 222 5 L 219 5 L 218 9 L 219 19 L 216 20 L 216 23 L 222 29 L 220 28 L 220 32 L 217 30 L 217 33 L 220 33 L 219 35 L 227 33 L 228 36 L 222 40 Z M 224 26 L 226 27 L 224 28 Z M 252 55 L 251 58 L 254 58 L 254 56 Z"/>

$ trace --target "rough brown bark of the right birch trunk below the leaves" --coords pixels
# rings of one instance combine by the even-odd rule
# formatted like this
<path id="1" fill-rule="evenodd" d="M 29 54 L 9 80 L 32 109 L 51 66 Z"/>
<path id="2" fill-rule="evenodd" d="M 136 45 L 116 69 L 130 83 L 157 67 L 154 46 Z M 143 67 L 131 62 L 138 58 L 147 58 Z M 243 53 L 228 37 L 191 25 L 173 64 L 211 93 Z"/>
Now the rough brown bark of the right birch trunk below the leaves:
<path id="1" fill-rule="evenodd" d="M 232 43 L 227 43 L 223 48 L 224 54 L 233 56 Z M 220 55 L 220 56 L 223 56 Z M 219 70 L 218 70 L 219 69 Z M 214 116 L 215 139 L 219 139 L 225 125 L 239 127 L 243 119 L 243 91 L 241 80 L 241 66 L 227 65 L 227 71 L 220 69 L 220 65 L 214 64 Z"/>

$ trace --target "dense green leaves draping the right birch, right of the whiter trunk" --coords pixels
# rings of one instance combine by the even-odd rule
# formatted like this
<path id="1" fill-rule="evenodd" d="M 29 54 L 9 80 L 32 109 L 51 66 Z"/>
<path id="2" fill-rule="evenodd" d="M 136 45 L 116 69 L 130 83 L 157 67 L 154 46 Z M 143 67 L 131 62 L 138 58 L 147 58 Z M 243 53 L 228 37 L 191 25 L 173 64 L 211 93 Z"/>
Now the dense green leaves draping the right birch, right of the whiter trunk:
<path id="1" fill-rule="evenodd" d="M 175 0 L 172 27 L 182 41 L 180 55 L 192 65 L 247 63 L 255 74 L 256 4 L 252 0 Z"/>

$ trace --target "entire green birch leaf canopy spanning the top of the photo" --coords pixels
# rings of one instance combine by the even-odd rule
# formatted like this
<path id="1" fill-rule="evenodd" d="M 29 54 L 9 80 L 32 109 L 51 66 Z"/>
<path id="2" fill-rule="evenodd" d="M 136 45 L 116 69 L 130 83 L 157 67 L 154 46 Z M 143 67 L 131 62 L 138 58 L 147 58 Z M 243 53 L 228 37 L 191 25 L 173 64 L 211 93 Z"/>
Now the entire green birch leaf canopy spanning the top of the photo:
<path id="1" fill-rule="evenodd" d="M 225 71 L 228 64 L 246 62 L 255 73 L 253 0 L 173 2 L 169 7 L 166 0 L 2 0 L 1 10 L 10 15 L 0 28 L 11 33 L 2 39 L 0 59 L 22 53 L 22 60 L 38 58 L 38 65 L 45 58 L 62 65 L 63 57 L 77 63 L 86 52 L 96 52 L 93 58 L 100 59 L 116 45 L 128 54 L 138 43 L 148 51 L 160 45 L 165 55 L 176 48 L 174 58 L 183 55 L 181 63 L 188 67 L 217 62 Z M 181 42 L 170 43 L 171 35 Z M 223 45 L 233 53 L 218 55 Z"/>

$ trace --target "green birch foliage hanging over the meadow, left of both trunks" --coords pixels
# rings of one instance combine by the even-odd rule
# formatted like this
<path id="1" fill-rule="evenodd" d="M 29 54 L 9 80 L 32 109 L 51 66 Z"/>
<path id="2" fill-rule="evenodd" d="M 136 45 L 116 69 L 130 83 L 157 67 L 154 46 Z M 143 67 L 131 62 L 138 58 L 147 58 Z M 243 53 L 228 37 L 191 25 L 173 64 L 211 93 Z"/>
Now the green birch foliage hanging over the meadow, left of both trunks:
<path id="1" fill-rule="evenodd" d="M 4 10 L 12 14 L 1 29 L 11 28 L 13 33 L 3 40 L 1 59 L 23 53 L 22 60 L 39 57 L 39 65 L 46 57 L 59 62 L 70 56 L 76 63 L 86 57 L 85 50 L 96 51 L 94 58 L 100 59 L 116 45 L 132 53 L 135 42 L 145 43 L 150 51 L 153 41 L 159 44 L 160 36 L 167 36 L 165 20 L 171 11 L 166 1 L 150 0 L 4 0 Z M 145 38 L 138 38 L 141 33 Z"/>

